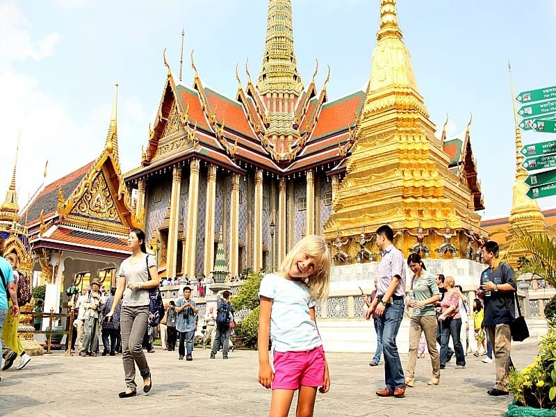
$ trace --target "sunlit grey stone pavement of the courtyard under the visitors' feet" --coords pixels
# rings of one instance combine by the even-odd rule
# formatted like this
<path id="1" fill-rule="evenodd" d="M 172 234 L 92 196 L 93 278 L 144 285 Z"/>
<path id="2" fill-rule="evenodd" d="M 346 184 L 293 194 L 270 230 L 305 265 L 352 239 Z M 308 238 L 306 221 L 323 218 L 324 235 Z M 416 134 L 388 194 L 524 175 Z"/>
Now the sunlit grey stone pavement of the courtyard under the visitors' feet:
<path id="1" fill-rule="evenodd" d="M 518 369 L 537 354 L 538 341 L 512 345 Z M 193 361 L 179 361 L 177 352 L 157 347 L 147 354 L 152 391 L 120 399 L 125 389 L 121 356 L 65 357 L 56 352 L 33 360 L 24 370 L 3 371 L 0 381 L 1 416 L 267 416 L 271 391 L 257 382 L 254 351 L 230 352 L 208 359 L 209 350 L 196 348 Z M 455 370 L 452 359 L 442 370 L 439 386 L 427 386 L 428 355 L 418 359 L 416 386 L 405 398 L 379 398 L 384 367 L 370 368 L 371 354 L 329 353 L 332 386 L 318 394 L 315 416 L 503 416 L 511 395 L 490 397 L 494 363 L 468 354 L 467 367 Z M 402 364 L 407 354 L 402 354 Z M 138 374 L 138 384 L 141 378 Z M 294 398 L 295 403 L 295 398 Z M 295 404 L 292 410 L 295 408 Z M 295 411 L 291 411 L 295 416 Z"/>

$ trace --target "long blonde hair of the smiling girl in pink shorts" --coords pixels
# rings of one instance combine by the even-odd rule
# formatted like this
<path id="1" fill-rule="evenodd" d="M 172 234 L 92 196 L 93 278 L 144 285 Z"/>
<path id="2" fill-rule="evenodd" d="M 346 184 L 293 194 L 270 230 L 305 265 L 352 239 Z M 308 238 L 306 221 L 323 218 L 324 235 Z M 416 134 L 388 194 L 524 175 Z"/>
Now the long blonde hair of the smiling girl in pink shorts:
<path id="1" fill-rule="evenodd" d="M 312 275 L 306 278 L 304 284 L 309 287 L 309 293 L 315 300 L 324 300 L 328 297 L 330 281 L 330 251 L 323 238 L 317 235 L 305 236 L 297 242 L 286 254 L 280 264 L 278 272 L 288 275 L 293 259 L 300 253 L 307 254 L 315 259 L 315 269 Z"/>

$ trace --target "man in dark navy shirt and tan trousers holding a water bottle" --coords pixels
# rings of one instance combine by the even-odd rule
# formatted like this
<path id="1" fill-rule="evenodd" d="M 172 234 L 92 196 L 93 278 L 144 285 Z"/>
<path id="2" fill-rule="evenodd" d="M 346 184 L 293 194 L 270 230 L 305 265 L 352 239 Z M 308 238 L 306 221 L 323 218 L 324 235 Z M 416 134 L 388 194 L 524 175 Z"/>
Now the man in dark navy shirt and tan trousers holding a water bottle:
<path id="1" fill-rule="evenodd" d="M 477 297 L 484 300 L 483 325 L 489 334 L 494 349 L 496 364 L 496 382 L 494 388 L 486 391 L 489 395 L 508 395 L 507 383 L 510 366 L 509 352 L 512 334 L 509 322 L 515 316 L 514 269 L 498 258 L 500 247 L 494 240 L 489 240 L 481 248 L 482 259 L 489 268 L 481 274 L 481 286 Z"/>

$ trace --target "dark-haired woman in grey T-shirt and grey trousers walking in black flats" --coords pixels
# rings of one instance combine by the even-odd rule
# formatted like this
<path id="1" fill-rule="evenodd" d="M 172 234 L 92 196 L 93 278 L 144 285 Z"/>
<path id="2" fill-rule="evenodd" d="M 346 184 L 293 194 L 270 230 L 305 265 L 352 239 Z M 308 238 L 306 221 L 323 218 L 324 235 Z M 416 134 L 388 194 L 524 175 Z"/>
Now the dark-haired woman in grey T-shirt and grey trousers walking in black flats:
<path id="1" fill-rule="evenodd" d="M 143 392 L 151 391 L 151 370 L 141 347 L 141 338 L 148 326 L 149 289 L 158 286 L 156 259 L 153 255 L 147 254 L 145 232 L 141 229 L 132 229 L 129 232 L 127 245 L 133 254 L 124 259 L 122 265 L 120 265 L 113 306 L 105 319 L 112 320 L 115 307 L 123 296 L 120 329 L 122 332 L 122 359 L 124 361 L 126 391 L 118 394 L 120 398 L 137 395 L 136 363 L 143 378 Z"/>

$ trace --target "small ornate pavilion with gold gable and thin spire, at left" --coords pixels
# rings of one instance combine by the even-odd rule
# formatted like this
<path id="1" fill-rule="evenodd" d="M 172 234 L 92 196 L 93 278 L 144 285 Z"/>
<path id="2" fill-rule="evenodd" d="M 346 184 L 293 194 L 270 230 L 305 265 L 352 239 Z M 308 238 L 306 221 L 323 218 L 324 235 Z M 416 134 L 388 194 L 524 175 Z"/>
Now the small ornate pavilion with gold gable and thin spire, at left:
<path id="1" fill-rule="evenodd" d="M 8 195 L 15 195 L 11 189 Z M 129 230 L 140 226 L 120 168 L 117 90 L 101 154 L 41 186 L 22 218 L 36 271 L 34 284 L 47 286 L 44 311 L 59 311 L 60 292 L 71 286 L 83 288 L 93 277 L 106 289 L 115 285 L 115 270 L 131 254 L 127 247 Z"/>

